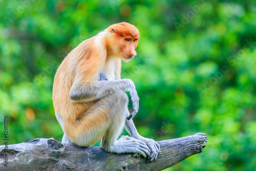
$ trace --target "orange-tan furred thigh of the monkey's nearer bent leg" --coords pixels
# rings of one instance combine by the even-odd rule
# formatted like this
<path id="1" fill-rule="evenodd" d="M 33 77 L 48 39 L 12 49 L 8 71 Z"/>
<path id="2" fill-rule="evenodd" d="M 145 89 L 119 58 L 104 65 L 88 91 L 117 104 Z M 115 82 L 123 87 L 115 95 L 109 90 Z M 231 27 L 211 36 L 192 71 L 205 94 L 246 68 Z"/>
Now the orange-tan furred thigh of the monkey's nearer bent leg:
<path id="1" fill-rule="evenodd" d="M 100 140 L 113 119 L 112 108 L 118 105 L 113 100 L 114 97 L 113 94 L 105 96 L 99 99 L 91 109 L 78 115 L 74 121 L 66 121 L 63 130 L 68 139 L 79 146 L 90 146 Z M 65 140 L 65 135 L 63 140 Z"/>

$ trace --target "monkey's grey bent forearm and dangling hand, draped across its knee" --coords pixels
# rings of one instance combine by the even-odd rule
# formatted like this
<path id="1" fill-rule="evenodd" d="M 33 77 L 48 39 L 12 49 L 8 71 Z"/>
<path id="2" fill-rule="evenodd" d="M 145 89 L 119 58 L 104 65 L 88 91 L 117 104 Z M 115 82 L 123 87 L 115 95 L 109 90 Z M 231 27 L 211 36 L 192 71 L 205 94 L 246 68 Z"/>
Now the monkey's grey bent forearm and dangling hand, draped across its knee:
<path id="1" fill-rule="evenodd" d="M 75 78 L 69 97 L 73 102 L 88 102 L 98 100 L 118 90 L 130 93 L 133 111 L 129 117 L 132 118 L 139 110 L 139 97 L 131 79 L 102 80 L 89 83 Z"/>

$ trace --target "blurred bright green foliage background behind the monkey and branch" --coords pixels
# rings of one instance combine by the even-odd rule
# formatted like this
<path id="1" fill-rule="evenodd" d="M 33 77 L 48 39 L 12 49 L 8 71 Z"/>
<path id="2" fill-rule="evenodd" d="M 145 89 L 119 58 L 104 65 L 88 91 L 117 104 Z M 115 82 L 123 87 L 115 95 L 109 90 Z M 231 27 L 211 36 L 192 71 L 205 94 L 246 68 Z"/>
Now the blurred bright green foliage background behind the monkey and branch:
<path id="1" fill-rule="evenodd" d="M 52 105 L 55 71 L 82 40 L 111 24 L 140 31 L 123 63 L 135 82 L 142 136 L 206 133 L 202 154 L 167 170 L 256 170 L 256 2 L 0 1 L 0 138 L 9 143 L 62 131 Z M 98 144 L 96 144 L 98 145 Z"/>

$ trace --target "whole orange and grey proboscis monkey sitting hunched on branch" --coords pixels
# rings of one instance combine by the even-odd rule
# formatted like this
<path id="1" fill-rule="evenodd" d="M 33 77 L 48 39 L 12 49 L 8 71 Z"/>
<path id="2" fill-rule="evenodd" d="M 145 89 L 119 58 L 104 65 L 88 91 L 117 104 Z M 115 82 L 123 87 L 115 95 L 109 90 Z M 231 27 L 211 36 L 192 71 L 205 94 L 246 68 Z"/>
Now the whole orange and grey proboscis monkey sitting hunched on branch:
<path id="1" fill-rule="evenodd" d="M 62 143 L 90 146 L 101 139 L 106 152 L 134 153 L 153 161 L 159 144 L 140 136 L 133 123 L 139 97 L 131 79 L 121 79 L 121 60 L 137 55 L 139 31 L 129 23 L 111 25 L 84 40 L 59 66 L 53 83 L 53 105 L 64 132 Z M 133 111 L 127 108 L 130 92 Z M 125 126 L 132 136 L 122 136 Z"/>

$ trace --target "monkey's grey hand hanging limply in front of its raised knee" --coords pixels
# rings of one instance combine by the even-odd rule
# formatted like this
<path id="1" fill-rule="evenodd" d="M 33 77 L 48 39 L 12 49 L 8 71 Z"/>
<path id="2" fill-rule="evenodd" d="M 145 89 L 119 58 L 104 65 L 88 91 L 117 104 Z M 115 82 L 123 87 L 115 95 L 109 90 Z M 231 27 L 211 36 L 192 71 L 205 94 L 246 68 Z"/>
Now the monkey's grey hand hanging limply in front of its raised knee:
<path id="1" fill-rule="evenodd" d="M 133 111 L 132 113 L 126 118 L 128 120 L 132 119 L 137 112 L 139 111 L 139 96 L 138 93 L 136 91 L 134 82 L 131 79 L 125 79 L 127 82 L 129 82 L 129 93 L 130 93 L 130 99 L 133 103 Z"/>

